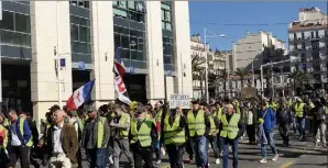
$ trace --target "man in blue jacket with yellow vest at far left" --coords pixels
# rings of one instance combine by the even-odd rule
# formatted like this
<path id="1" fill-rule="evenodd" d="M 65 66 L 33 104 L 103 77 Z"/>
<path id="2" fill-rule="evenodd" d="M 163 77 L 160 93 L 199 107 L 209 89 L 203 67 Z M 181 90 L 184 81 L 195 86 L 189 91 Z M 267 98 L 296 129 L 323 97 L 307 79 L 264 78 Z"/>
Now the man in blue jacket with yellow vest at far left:
<path id="1" fill-rule="evenodd" d="M 26 120 L 18 116 L 14 110 L 9 112 L 11 126 L 8 133 L 8 153 L 10 157 L 9 166 L 14 168 L 18 159 L 21 160 L 22 168 L 29 168 L 29 154 L 33 145 L 32 132 Z"/>

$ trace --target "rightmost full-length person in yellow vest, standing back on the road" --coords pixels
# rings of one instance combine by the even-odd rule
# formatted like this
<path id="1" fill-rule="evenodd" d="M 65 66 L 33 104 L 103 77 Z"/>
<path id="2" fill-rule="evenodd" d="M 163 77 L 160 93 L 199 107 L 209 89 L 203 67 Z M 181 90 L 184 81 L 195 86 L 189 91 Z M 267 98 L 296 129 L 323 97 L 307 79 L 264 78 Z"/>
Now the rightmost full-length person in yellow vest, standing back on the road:
<path id="1" fill-rule="evenodd" d="M 296 124 L 298 127 L 299 139 L 305 141 L 305 116 L 306 116 L 306 104 L 300 98 L 296 99 L 293 111 L 295 112 Z"/>

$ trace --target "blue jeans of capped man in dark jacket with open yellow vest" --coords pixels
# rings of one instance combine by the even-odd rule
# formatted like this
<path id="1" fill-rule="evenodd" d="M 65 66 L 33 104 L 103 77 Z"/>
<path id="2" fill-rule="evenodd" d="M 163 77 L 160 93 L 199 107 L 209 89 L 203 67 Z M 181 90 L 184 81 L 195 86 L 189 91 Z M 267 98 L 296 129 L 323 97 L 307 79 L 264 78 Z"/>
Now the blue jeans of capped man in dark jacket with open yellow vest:
<path id="1" fill-rule="evenodd" d="M 107 148 L 86 149 L 90 168 L 106 168 Z"/>

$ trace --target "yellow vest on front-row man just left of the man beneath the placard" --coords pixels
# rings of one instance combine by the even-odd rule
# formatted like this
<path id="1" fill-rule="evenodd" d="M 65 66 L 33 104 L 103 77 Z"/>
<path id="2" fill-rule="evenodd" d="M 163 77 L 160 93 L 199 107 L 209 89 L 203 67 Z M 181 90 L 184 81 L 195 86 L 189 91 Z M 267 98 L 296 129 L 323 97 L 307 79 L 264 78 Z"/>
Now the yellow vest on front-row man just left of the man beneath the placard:
<path id="1" fill-rule="evenodd" d="M 136 127 L 136 122 L 131 123 L 131 144 L 135 144 L 138 141 L 142 147 L 149 147 L 152 144 L 152 138 L 151 138 L 151 131 L 152 131 L 152 125 L 154 124 L 153 121 L 145 119 L 139 131 Z"/>

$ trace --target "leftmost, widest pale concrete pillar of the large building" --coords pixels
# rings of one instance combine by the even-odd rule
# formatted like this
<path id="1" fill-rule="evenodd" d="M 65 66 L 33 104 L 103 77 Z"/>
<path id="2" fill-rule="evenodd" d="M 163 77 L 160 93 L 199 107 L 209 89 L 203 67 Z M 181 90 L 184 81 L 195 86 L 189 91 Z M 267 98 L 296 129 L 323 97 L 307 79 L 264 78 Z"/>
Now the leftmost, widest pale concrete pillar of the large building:
<path id="1" fill-rule="evenodd" d="M 68 1 L 31 1 L 30 8 L 33 51 L 31 92 L 33 116 L 39 122 L 58 101 L 55 46 L 57 53 L 66 58 L 66 68 L 62 70 L 63 101 L 72 94 L 69 4 Z"/>

